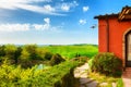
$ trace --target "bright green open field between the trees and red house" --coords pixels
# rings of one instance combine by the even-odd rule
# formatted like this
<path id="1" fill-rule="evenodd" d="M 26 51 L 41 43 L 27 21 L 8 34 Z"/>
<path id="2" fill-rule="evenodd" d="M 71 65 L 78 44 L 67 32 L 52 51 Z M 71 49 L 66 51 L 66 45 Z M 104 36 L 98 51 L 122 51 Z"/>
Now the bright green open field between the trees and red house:
<path id="1" fill-rule="evenodd" d="M 76 54 L 92 58 L 98 52 L 98 47 L 96 45 L 47 46 L 44 47 L 44 49 L 52 53 L 59 53 L 68 59 L 72 59 Z"/>

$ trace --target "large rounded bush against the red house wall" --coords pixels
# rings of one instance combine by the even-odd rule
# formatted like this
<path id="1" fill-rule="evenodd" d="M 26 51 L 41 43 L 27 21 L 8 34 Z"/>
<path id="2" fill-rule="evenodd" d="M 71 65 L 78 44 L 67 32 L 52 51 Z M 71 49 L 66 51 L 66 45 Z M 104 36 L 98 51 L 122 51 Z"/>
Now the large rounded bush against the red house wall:
<path id="1" fill-rule="evenodd" d="M 109 76 L 121 76 L 122 61 L 114 53 L 98 53 L 91 62 L 90 65 L 93 72 L 99 72 Z"/>

